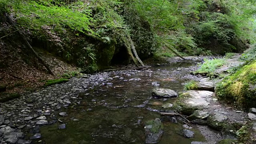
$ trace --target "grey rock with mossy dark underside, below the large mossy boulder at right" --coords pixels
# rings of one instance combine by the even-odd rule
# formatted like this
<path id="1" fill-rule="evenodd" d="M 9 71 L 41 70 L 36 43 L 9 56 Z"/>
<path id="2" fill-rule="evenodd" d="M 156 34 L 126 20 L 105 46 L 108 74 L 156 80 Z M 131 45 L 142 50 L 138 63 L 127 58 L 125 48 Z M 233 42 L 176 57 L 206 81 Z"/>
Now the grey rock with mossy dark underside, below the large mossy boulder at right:
<path id="1" fill-rule="evenodd" d="M 226 125 L 227 116 L 224 114 L 220 114 L 219 112 L 214 112 L 210 114 L 207 118 L 207 124 L 211 128 L 216 130 L 222 130 L 222 128 Z"/>

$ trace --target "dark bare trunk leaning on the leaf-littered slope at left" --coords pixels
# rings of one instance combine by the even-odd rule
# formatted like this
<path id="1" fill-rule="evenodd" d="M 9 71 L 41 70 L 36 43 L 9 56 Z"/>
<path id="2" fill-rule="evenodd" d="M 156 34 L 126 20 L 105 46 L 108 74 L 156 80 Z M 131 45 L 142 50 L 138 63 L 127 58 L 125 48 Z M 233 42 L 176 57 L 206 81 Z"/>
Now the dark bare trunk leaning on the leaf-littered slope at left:
<path id="1" fill-rule="evenodd" d="M 5 16 L 8 19 L 8 21 L 14 26 L 14 28 L 16 28 L 15 23 L 13 22 L 12 18 L 10 18 L 10 16 L 7 13 L 5 13 Z M 44 65 L 44 67 L 48 70 L 48 72 L 53 75 L 51 68 L 46 64 L 46 62 L 44 62 L 44 60 L 40 56 L 38 56 L 36 51 L 29 44 L 29 42 L 28 42 L 27 38 L 24 36 L 24 34 L 22 34 L 22 32 L 20 32 L 20 30 L 18 30 L 18 32 L 20 33 L 20 35 L 22 36 L 23 40 L 26 42 L 28 47 L 31 49 L 31 51 L 35 54 L 36 58 Z"/>

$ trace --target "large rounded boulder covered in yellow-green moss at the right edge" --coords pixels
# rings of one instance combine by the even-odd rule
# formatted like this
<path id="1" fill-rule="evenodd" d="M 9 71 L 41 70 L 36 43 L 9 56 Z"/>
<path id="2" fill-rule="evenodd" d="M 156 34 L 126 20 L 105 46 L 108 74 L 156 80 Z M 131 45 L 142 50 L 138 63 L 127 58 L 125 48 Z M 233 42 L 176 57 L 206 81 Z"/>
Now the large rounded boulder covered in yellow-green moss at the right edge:
<path id="1" fill-rule="evenodd" d="M 216 96 L 244 108 L 256 107 L 256 61 L 216 84 Z"/>

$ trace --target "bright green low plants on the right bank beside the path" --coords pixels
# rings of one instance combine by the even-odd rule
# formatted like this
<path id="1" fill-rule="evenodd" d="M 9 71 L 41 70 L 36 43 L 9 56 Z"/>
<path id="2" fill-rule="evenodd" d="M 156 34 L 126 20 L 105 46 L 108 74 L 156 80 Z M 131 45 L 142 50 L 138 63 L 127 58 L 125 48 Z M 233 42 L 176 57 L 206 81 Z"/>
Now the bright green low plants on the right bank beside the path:
<path id="1" fill-rule="evenodd" d="M 194 72 L 194 74 L 208 74 L 214 72 L 217 68 L 223 66 L 226 61 L 225 59 L 213 59 L 204 60 L 205 62 L 201 64 L 200 68 Z"/>

